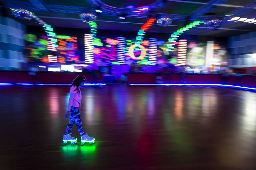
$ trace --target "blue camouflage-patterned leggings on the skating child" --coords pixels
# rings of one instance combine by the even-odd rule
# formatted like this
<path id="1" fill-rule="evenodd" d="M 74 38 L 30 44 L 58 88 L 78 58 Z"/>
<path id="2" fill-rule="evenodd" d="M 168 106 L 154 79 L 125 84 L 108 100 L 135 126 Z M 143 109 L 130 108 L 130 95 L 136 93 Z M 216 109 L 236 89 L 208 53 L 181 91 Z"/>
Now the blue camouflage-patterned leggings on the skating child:
<path id="1" fill-rule="evenodd" d="M 68 123 L 68 127 L 66 129 L 65 134 L 69 134 L 73 125 L 76 123 L 77 130 L 79 131 L 80 135 L 84 134 L 84 130 L 82 128 L 82 120 L 79 112 L 79 108 L 71 106 L 70 110 L 70 121 Z"/>

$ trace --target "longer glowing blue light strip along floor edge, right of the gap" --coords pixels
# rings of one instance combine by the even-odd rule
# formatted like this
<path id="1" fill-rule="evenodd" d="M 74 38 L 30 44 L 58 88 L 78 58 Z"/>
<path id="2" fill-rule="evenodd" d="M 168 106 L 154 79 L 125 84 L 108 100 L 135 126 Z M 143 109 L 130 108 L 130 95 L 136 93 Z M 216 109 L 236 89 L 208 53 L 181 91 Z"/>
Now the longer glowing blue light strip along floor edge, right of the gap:
<path id="1" fill-rule="evenodd" d="M 220 87 L 232 87 L 232 88 L 256 90 L 256 88 L 253 88 L 253 87 L 235 86 L 235 85 L 228 85 L 228 84 L 207 84 L 207 83 L 159 83 L 159 84 L 131 84 L 131 83 L 128 83 L 128 85 L 220 86 Z"/>

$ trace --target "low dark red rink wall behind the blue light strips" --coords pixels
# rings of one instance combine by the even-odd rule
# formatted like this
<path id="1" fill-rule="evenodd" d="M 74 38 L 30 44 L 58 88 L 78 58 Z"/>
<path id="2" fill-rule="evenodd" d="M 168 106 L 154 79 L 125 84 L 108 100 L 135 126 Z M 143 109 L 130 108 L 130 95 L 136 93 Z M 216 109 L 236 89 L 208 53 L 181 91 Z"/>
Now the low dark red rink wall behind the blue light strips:
<path id="1" fill-rule="evenodd" d="M 84 75 L 87 83 L 114 82 L 106 79 L 106 76 L 98 74 L 97 82 L 93 80 L 91 72 L 37 72 L 36 76 L 29 75 L 27 71 L 0 71 L 0 83 L 72 83 L 78 75 Z M 125 83 L 212 83 L 230 84 L 238 86 L 256 87 L 256 76 L 231 75 L 224 77 L 219 74 L 168 74 L 168 73 L 126 73 Z M 120 82 L 115 80 L 116 82 Z"/>

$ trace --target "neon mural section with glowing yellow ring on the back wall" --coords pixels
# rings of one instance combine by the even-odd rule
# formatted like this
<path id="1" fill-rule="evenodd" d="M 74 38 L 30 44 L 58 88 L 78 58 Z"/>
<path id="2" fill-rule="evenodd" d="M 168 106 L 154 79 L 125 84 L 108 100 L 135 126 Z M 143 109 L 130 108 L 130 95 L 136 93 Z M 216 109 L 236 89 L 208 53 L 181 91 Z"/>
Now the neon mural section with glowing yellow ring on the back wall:
<path id="1" fill-rule="evenodd" d="M 137 44 L 136 39 L 128 39 L 125 37 L 88 37 L 87 35 L 85 48 L 87 52 L 92 53 L 90 60 L 87 63 L 95 64 L 133 64 L 139 63 L 143 65 L 156 65 L 161 60 L 161 63 L 168 63 L 170 54 L 165 53 L 167 49 L 165 41 L 158 41 L 157 39 L 150 38 L 141 41 Z M 93 44 L 91 41 L 93 40 Z M 90 43 L 88 43 L 90 42 Z M 165 47 L 161 49 L 161 47 Z M 89 54 L 89 53 L 87 53 Z M 93 60 L 92 60 L 93 59 Z"/>

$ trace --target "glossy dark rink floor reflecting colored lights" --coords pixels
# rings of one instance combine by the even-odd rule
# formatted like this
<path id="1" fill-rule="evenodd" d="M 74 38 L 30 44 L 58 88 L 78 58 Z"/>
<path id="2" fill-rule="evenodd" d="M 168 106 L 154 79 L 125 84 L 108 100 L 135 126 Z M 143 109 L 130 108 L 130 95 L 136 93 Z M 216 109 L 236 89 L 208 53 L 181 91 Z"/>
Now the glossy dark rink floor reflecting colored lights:
<path id="1" fill-rule="evenodd" d="M 82 88 L 96 144 L 62 146 L 69 86 L 0 86 L 0 169 L 255 169 L 256 93 L 221 87 Z M 72 169 L 73 169 L 72 168 Z"/>

